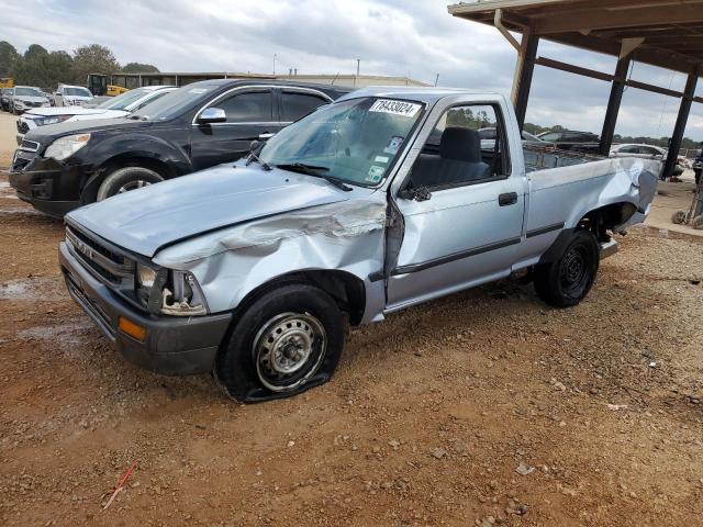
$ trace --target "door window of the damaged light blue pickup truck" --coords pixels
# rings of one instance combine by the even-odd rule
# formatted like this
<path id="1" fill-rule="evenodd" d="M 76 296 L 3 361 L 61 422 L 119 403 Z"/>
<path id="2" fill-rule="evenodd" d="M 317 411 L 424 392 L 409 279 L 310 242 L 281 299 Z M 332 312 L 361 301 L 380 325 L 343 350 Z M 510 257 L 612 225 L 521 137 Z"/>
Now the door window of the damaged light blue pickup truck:
<path id="1" fill-rule="evenodd" d="M 498 106 L 450 108 L 429 134 L 410 184 L 437 189 L 505 178 L 510 171 L 506 145 Z"/>

